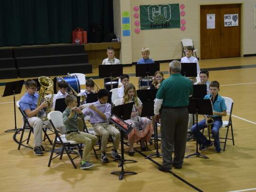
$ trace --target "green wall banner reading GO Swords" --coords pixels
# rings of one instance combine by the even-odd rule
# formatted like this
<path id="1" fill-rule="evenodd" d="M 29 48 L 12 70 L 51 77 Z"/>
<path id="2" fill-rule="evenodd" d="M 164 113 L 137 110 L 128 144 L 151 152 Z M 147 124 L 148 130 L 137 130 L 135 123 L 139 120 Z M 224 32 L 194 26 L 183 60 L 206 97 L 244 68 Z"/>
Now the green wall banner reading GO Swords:
<path id="1" fill-rule="evenodd" d="M 180 28 L 179 4 L 140 5 L 141 30 Z"/>

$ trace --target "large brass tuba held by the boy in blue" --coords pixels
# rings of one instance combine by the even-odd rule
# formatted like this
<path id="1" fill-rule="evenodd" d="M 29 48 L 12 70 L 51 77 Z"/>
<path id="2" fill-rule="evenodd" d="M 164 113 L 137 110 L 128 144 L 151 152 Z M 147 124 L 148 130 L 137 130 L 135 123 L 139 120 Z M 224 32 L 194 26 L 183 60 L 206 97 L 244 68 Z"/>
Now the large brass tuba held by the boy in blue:
<path id="1" fill-rule="evenodd" d="M 41 86 L 38 92 L 39 96 L 37 100 L 37 108 L 41 105 L 42 102 L 46 101 L 46 92 L 51 92 L 49 94 L 52 94 L 52 97 L 48 99 L 48 105 L 46 109 L 42 109 L 37 113 L 37 117 L 41 118 L 43 121 L 46 121 L 48 120 L 47 115 L 51 112 L 51 105 L 53 103 L 54 92 L 49 90 L 49 88 L 53 86 L 53 80 L 46 76 L 40 76 L 38 78 L 38 82 Z"/>

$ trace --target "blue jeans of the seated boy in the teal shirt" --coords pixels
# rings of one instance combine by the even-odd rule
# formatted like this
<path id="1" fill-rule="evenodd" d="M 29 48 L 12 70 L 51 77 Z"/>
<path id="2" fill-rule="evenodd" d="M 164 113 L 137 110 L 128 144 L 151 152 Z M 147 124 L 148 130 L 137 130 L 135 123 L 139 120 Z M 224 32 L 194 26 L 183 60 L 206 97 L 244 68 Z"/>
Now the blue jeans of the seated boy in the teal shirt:
<path id="1" fill-rule="evenodd" d="M 201 130 L 206 127 L 205 123 L 205 119 L 198 123 L 198 132 L 196 132 L 196 124 L 191 127 L 191 131 L 193 132 L 194 136 L 197 137 L 198 143 L 200 145 L 207 142 L 207 138 L 201 133 Z M 211 133 L 212 137 L 214 138 L 214 147 L 219 147 L 219 129 L 222 124 L 223 122 L 220 119 L 215 119 L 211 124 Z"/>

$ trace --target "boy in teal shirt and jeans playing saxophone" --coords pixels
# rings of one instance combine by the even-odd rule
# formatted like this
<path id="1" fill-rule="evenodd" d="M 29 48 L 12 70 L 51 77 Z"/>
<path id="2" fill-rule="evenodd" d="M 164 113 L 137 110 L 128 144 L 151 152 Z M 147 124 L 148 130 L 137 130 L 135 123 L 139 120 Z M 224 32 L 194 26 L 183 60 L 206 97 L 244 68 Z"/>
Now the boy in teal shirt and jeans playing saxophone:
<path id="1" fill-rule="evenodd" d="M 203 99 L 209 100 L 212 102 L 213 109 L 213 123 L 211 124 L 211 133 L 214 138 L 214 142 L 212 143 L 210 140 L 200 132 L 201 129 L 207 127 L 207 119 L 209 116 L 203 115 L 204 119 L 198 123 L 198 130 L 196 130 L 196 124 L 191 127 L 191 130 L 194 136 L 197 138 L 198 143 L 200 144 L 199 150 L 206 150 L 212 144 L 214 144 L 215 152 L 221 152 L 220 144 L 219 144 L 219 129 L 222 126 L 222 116 L 227 115 L 227 106 L 225 104 L 225 100 L 219 96 L 219 82 L 212 81 L 210 83 L 210 94 L 206 95 Z"/>

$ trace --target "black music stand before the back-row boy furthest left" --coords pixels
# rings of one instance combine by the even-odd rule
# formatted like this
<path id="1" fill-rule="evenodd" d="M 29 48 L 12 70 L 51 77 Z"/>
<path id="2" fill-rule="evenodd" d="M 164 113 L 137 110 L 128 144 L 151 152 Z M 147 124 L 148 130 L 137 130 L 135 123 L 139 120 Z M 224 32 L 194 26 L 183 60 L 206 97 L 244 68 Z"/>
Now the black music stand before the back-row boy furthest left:
<path id="1" fill-rule="evenodd" d="M 110 77 L 110 87 L 113 89 L 112 76 L 119 77 L 123 74 L 123 65 L 99 65 L 99 77 L 105 78 Z M 105 84 L 104 84 L 105 86 Z"/>

